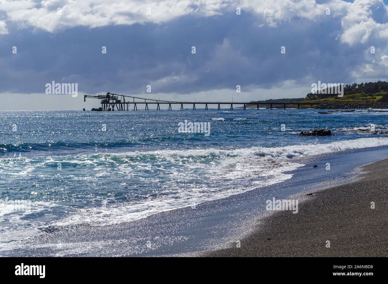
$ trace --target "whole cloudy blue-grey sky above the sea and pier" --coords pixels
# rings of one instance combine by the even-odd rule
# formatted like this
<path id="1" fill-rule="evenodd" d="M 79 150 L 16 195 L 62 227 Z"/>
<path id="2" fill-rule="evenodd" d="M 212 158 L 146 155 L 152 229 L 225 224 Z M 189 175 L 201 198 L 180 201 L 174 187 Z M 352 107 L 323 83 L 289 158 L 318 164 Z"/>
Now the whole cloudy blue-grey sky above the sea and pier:
<path id="1" fill-rule="evenodd" d="M 388 6 L 0 0 L 0 50 L 0 110 L 90 109 L 99 101 L 83 95 L 106 92 L 197 101 L 305 97 L 318 81 L 387 80 Z M 46 94 L 52 81 L 77 83 L 78 96 Z"/>

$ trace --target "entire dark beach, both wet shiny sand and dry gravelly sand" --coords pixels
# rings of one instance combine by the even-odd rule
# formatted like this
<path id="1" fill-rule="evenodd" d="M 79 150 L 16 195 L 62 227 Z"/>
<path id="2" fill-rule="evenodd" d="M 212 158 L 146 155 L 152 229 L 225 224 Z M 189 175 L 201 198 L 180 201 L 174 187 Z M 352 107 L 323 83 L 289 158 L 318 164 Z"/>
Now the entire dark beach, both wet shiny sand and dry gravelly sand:
<path id="1" fill-rule="evenodd" d="M 48 228 L 37 237 L 3 244 L 0 255 L 386 256 L 388 160 L 359 175 L 359 167 L 388 158 L 386 150 L 315 155 L 281 183 L 128 223 Z M 298 199 L 298 213 L 265 210 L 273 197 Z M 371 201 L 376 209 L 370 209 Z M 227 249 L 238 240 L 241 248 Z M 325 248 L 327 240 L 331 248 Z M 221 248 L 226 249 L 215 251 Z"/>

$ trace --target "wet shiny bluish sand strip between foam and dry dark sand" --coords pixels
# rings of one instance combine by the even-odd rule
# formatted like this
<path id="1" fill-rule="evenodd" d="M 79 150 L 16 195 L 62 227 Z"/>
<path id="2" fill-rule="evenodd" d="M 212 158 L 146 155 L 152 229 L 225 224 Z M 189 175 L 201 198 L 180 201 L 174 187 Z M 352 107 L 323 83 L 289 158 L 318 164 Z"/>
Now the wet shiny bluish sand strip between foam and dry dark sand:
<path id="1" fill-rule="evenodd" d="M 359 166 L 388 158 L 386 146 L 333 152 L 305 159 L 305 166 L 284 182 L 249 190 L 196 208 L 165 211 L 147 218 L 104 227 L 88 225 L 52 228 L 0 249 L 2 256 L 198 256 L 230 247 L 254 232 L 260 219 L 272 215 L 265 200 L 306 194 L 358 179 Z M 331 170 L 325 170 L 326 163 Z M 318 165 L 316 168 L 314 165 Z M 274 195 L 275 194 L 275 195 Z M 292 197 L 294 198 L 294 197 Z M 303 198 L 299 198 L 302 200 Z M 299 206 L 299 212 L 303 206 Z M 292 214 L 301 216 L 300 213 Z M 151 242 L 151 248 L 147 242 Z M 243 245 L 243 244 L 242 244 Z"/>

